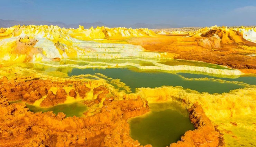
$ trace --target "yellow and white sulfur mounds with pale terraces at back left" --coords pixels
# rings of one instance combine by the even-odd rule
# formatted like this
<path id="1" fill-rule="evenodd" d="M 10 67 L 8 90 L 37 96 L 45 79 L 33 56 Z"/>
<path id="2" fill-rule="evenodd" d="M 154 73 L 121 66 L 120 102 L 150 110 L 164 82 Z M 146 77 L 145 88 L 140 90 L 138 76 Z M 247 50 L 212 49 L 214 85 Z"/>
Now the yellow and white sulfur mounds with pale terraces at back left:
<path id="1" fill-rule="evenodd" d="M 149 29 L 107 27 L 84 29 L 83 26 L 80 26 L 78 29 L 66 29 L 60 28 L 58 26 L 46 25 L 13 26 L 10 28 L 1 28 L 0 30 L 0 51 L 2 52 L 0 58 L 2 60 L 17 62 L 55 60 L 56 58 L 61 59 L 63 57 L 84 56 L 90 52 L 120 52 L 120 49 L 122 48 L 129 48 L 130 51 L 124 50 L 124 52 L 132 53 L 138 50 L 143 51 L 143 49 L 134 45 L 123 45 L 127 44 L 125 42 L 122 44 L 106 44 L 104 43 L 104 39 L 108 37 L 115 37 L 116 39 L 120 39 L 122 37 L 142 37 L 154 35 L 156 34 Z M 23 42 L 24 46 L 19 47 L 19 51 L 16 52 L 16 40 L 19 37 L 21 37 L 20 42 Z M 37 43 L 28 43 L 28 38 L 36 39 Z M 89 40 L 98 41 L 99 39 L 101 39 L 100 43 L 88 42 Z M 32 53 L 29 53 L 30 51 L 25 51 L 28 50 L 25 45 L 29 45 L 32 48 L 34 47 L 39 51 L 33 51 Z M 116 51 L 116 49 L 119 50 Z M 20 53 L 20 51 L 23 53 Z M 93 56 L 97 56 L 97 58 L 99 58 L 97 53 L 95 53 Z M 111 58 L 113 57 L 115 56 L 111 55 Z M 101 58 L 110 57 L 107 56 Z"/>

